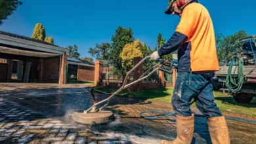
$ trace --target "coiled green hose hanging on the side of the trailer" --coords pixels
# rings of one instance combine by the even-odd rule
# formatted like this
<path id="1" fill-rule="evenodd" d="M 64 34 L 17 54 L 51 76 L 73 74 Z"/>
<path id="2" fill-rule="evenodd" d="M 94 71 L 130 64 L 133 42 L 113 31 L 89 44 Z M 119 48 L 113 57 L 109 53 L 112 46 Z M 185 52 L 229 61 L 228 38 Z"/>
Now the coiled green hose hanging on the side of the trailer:
<path id="1" fill-rule="evenodd" d="M 234 73 L 232 73 L 232 69 L 234 63 L 237 62 L 236 69 L 238 68 L 238 75 L 236 77 L 236 69 L 234 69 Z M 230 66 L 228 67 L 228 73 L 226 75 L 226 88 L 231 92 L 238 92 L 241 90 L 242 85 L 244 83 L 244 60 L 242 56 L 238 56 L 237 58 L 232 58 Z"/>

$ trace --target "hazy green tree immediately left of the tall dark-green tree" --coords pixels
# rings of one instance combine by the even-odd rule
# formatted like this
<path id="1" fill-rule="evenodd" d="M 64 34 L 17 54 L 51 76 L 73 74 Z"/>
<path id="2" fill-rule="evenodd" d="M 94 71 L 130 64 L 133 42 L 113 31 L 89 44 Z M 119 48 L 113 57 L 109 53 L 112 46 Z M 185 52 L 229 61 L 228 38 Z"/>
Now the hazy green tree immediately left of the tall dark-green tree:
<path id="1" fill-rule="evenodd" d="M 111 45 L 109 43 L 102 43 L 98 45 L 96 43 L 95 48 L 89 48 L 89 54 L 96 60 L 108 60 L 110 56 Z"/>

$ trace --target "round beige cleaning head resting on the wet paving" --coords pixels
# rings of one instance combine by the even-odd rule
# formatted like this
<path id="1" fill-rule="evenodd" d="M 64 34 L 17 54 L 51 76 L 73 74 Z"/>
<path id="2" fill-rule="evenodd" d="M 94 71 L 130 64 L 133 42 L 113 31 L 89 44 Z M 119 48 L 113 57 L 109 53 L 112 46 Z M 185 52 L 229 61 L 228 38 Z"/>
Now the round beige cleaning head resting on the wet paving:
<path id="1" fill-rule="evenodd" d="M 81 124 L 106 124 L 114 120 L 114 114 L 112 111 L 97 111 L 91 113 L 77 111 L 73 114 L 73 120 Z"/>

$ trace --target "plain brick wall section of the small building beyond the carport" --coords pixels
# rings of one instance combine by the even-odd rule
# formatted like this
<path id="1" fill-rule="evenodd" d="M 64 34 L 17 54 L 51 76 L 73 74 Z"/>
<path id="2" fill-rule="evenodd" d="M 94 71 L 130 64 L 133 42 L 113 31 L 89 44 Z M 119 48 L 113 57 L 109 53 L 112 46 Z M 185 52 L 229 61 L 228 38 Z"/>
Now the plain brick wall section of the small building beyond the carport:
<path id="1" fill-rule="evenodd" d="M 94 81 L 94 80 L 95 80 L 95 67 L 78 65 L 77 81 Z"/>

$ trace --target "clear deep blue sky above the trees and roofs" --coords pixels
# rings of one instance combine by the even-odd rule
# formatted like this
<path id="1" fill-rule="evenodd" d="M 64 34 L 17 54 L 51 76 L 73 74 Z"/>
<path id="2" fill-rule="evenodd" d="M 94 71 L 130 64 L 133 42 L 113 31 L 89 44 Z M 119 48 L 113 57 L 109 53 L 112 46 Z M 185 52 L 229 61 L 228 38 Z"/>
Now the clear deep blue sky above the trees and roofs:
<path id="1" fill-rule="evenodd" d="M 2 31 L 31 37 L 36 23 L 45 27 L 47 36 L 62 47 L 77 45 L 83 57 L 95 43 L 111 42 L 118 26 L 131 27 L 135 39 L 151 48 L 158 32 L 169 39 L 179 17 L 166 15 L 168 0 L 21 0 L 23 5 L 0 26 Z M 244 29 L 256 35 L 256 1 L 201 0 L 210 12 L 215 33 L 230 35 Z"/>

